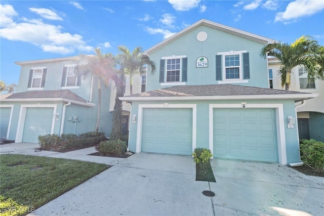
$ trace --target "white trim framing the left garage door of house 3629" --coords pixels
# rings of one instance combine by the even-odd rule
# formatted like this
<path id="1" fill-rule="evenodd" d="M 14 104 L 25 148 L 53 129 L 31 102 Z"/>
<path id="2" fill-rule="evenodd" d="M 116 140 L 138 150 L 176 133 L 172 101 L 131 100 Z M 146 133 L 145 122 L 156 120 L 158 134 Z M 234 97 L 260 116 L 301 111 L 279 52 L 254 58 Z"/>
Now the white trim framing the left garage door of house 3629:
<path id="1" fill-rule="evenodd" d="M 144 108 L 191 108 L 192 109 L 192 151 L 196 148 L 196 128 L 197 128 L 197 115 L 196 104 L 139 104 L 137 116 L 137 136 L 136 136 L 136 153 L 141 152 L 142 149 L 142 120 Z M 131 115 L 133 115 L 132 113 Z"/>

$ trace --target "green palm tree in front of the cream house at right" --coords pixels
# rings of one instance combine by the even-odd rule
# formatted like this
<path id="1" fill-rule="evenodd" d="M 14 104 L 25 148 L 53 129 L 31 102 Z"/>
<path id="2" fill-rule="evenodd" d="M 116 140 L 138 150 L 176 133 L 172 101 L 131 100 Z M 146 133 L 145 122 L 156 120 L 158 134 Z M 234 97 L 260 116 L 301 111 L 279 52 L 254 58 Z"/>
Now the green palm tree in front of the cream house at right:
<path id="1" fill-rule="evenodd" d="M 306 67 L 308 80 L 324 79 L 324 49 L 310 36 L 301 36 L 291 45 L 282 42 L 266 45 L 262 48 L 260 56 L 266 58 L 267 55 L 280 61 L 278 74 L 281 77 L 281 86 L 285 86 L 286 90 L 289 90 L 293 68 L 298 65 Z"/>

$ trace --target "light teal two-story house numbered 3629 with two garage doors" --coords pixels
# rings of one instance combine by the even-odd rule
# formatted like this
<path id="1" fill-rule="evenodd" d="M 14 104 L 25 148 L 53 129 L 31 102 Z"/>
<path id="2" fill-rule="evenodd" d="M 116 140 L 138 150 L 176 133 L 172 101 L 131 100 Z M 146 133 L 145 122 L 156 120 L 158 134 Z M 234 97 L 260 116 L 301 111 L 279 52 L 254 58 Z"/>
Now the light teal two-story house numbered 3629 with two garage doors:
<path id="1" fill-rule="evenodd" d="M 269 89 L 261 49 L 275 40 L 200 20 L 145 51 L 158 70 L 131 103 L 129 149 L 300 161 L 295 103 L 312 93 Z"/>

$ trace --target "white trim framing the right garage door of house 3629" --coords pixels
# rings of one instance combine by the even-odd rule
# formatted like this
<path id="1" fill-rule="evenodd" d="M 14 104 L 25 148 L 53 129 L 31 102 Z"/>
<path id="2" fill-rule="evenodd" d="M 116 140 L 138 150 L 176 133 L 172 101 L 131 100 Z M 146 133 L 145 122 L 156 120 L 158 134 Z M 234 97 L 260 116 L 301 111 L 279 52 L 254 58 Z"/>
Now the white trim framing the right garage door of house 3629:
<path id="1" fill-rule="evenodd" d="M 277 129 L 277 144 L 278 144 L 278 159 L 279 163 L 287 165 L 286 154 L 286 136 L 285 136 L 285 121 L 284 121 L 284 105 L 282 104 L 249 104 L 242 108 L 239 104 L 210 104 L 209 105 L 209 149 L 212 154 L 214 153 L 214 128 L 213 128 L 213 110 L 214 108 L 274 108 L 276 116 L 276 129 Z"/>

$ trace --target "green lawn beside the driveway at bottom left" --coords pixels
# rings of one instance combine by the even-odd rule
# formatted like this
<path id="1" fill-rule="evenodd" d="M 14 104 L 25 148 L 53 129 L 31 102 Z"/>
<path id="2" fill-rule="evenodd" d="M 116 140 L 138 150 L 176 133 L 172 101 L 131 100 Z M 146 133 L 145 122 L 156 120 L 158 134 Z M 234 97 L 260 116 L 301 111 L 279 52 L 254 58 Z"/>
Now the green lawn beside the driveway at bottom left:
<path id="1" fill-rule="evenodd" d="M 36 209 L 107 168 L 109 165 L 78 160 L 0 155 L 0 214 L 15 215 L 4 212 L 8 205 L 15 211 L 18 204 Z"/>

